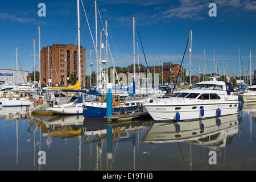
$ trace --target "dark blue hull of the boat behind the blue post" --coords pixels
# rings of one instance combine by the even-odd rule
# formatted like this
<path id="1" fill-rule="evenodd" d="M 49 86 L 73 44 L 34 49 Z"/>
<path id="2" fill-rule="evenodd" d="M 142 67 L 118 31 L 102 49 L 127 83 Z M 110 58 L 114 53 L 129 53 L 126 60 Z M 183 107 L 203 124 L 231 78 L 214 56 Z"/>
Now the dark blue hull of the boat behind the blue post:
<path id="1" fill-rule="evenodd" d="M 125 112 L 131 113 L 132 111 L 134 111 L 134 112 L 142 111 L 142 106 L 114 108 L 113 115 L 114 114 L 124 114 Z M 85 118 L 104 118 L 104 117 L 106 117 L 106 108 L 82 106 L 82 114 L 84 115 Z"/>

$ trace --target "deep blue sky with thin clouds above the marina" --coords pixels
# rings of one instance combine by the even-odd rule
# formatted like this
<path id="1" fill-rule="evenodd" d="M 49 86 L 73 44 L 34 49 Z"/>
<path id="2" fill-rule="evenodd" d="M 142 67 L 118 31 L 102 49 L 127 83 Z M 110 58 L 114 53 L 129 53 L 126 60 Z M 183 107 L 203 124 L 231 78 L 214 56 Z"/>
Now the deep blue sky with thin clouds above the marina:
<path id="1" fill-rule="evenodd" d="M 39 17 L 39 3 L 45 3 L 46 16 Z M 89 26 L 95 41 L 94 1 L 82 0 L 88 16 Z M 209 3 L 216 3 L 217 16 L 210 17 Z M 192 75 L 204 69 L 204 49 L 207 72 L 213 72 L 213 51 L 215 50 L 221 75 L 227 65 L 231 76 L 239 70 L 238 46 L 241 51 L 243 69 L 248 71 L 249 54 L 252 51 L 253 69 L 256 55 L 256 1 L 250 0 L 98 0 L 98 10 L 103 19 L 108 18 L 109 44 L 115 66 L 133 64 L 132 17 L 141 36 L 148 64 L 162 62 L 179 64 L 181 55 L 193 30 Z M 93 47 L 85 13 L 80 1 L 81 46 L 86 48 L 86 71 L 89 73 L 89 48 Z M 1 69 L 15 68 L 15 48 L 18 46 L 19 69 L 34 69 L 33 38 L 36 38 L 36 70 L 39 70 L 38 25 L 41 27 L 41 48 L 56 44 L 77 45 L 77 1 L 2 1 L 0 5 L 0 63 Z M 102 30 L 98 15 L 98 32 Z M 102 34 L 104 35 L 104 34 Z M 103 38 L 104 36 L 102 36 Z M 105 39 L 105 38 L 104 38 Z M 100 41 L 100 34 L 98 34 Z M 136 34 L 136 41 L 139 41 Z M 99 45 L 100 43 L 98 43 Z M 95 51 L 92 51 L 95 62 Z M 103 52 L 103 51 L 102 51 Z M 112 60 L 109 54 L 109 65 Z M 136 44 L 137 54 L 137 44 Z M 141 63 L 146 65 L 141 45 Z M 103 53 L 102 53 L 102 56 Z M 189 53 L 184 67 L 189 69 Z M 137 58 L 136 58 L 137 60 Z M 95 67 L 94 67 L 95 68 Z"/>

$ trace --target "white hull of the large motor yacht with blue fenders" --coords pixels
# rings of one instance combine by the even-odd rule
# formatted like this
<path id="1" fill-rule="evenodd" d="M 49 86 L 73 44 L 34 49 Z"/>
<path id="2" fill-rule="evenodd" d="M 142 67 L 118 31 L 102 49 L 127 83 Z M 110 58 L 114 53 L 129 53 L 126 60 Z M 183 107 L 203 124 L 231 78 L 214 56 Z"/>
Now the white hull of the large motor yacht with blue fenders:
<path id="1" fill-rule="evenodd" d="M 220 108 L 221 116 L 238 113 L 239 102 L 222 102 L 222 103 L 204 103 L 204 104 L 179 104 L 179 105 L 156 105 L 144 106 L 144 109 L 150 113 L 155 121 L 173 121 L 176 120 L 176 113 L 179 112 L 180 120 L 203 119 L 217 117 L 217 109 Z M 200 107 L 204 106 L 204 115 L 201 116 Z M 177 107 L 180 107 L 177 110 Z M 193 109 L 196 108 L 196 109 Z"/>

